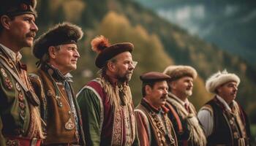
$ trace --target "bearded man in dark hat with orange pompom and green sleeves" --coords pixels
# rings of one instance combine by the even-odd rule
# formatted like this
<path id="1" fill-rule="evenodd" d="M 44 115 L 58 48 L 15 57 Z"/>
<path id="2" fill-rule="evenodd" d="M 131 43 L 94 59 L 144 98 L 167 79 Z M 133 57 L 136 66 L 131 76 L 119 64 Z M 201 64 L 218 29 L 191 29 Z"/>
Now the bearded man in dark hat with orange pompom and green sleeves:
<path id="1" fill-rule="evenodd" d="M 91 41 L 100 76 L 78 93 L 86 145 L 138 145 L 128 81 L 135 62 L 129 42 L 110 45 L 103 36 Z"/>

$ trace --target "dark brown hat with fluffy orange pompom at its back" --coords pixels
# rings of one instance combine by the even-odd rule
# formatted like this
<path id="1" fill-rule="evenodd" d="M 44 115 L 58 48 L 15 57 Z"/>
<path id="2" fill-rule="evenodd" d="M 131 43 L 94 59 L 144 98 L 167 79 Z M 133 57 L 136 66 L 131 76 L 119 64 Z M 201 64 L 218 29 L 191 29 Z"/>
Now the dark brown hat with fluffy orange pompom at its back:
<path id="1" fill-rule="evenodd" d="M 95 37 L 91 40 L 91 49 L 97 53 L 95 65 L 100 69 L 114 56 L 129 51 L 132 53 L 134 46 L 130 42 L 121 42 L 110 45 L 104 36 Z"/>

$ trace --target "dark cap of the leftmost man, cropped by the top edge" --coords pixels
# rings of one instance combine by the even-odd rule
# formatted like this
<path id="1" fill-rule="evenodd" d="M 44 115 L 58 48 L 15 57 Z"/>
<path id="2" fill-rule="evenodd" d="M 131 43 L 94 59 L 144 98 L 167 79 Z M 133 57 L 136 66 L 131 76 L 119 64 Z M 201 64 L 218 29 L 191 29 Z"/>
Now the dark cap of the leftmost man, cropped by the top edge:
<path id="1" fill-rule="evenodd" d="M 23 15 L 32 14 L 37 16 L 36 12 L 37 0 L 1 0 L 0 16 L 1 15 Z"/>

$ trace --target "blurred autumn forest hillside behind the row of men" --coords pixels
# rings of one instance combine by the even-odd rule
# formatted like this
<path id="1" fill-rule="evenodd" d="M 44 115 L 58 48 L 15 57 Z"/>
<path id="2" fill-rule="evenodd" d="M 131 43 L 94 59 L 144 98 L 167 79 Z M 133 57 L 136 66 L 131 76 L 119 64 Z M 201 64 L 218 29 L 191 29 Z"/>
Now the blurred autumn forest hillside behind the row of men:
<path id="1" fill-rule="evenodd" d="M 223 45 L 218 41 L 214 42 L 214 39 L 199 34 L 199 32 L 206 31 L 203 26 L 197 26 L 198 30 L 195 32 L 191 31 L 189 26 L 181 25 L 187 23 L 186 21 L 172 22 L 172 19 L 165 15 L 166 12 L 161 11 L 161 7 L 167 7 L 168 2 L 170 1 L 38 0 L 36 23 L 39 26 L 39 32 L 37 36 L 47 31 L 50 26 L 64 21 L 75 23 L 83 28 L 85 36 L 79 43 L 78 69 L 72 72 L 75 91 L 79 91 L 86 82 L 97 77 L 98 69 L 94 66 L 96 54 L 91 50 L 91 39 L 98 35 L 104 35 L 111 43 L 132 42 L 135 45 L 135 50 L 132 53 L 133 59 L 138 61 L 132 80 L 129 82 L 135 105 L 142 98 L 139 75 L 143 72 L 162 72 L 166 66 L 173 64 L 193 66 L 197 69 L 199 77 L 195 80 L 193 95 L 189 97 L 189 100 L 195 104 L 198 110 L 212 97 L 205 89 L 207 77 L 218 70 L 227 69 L 228 72 L 236 73 L 241 78 L 237 100 L 246 110 L 251 123 L 256 124 L 256 67 L 254 63 L 252 64 L 255 57 L 249 58 L 255 48 L 246 57 L 246 55 L 241 55 L 243 52 L 247 53 L 246 47 L 239 47 L 240 50 L 232 45 L 222 47 Z M 171 8 L 178 9 L 180 2 L 178 4 L 174 2 L 171 3 Z M 198 2 L 200 1 L 198 0 Z M 251 3 L 254 4 L 253 1 Z M 184 4 L 189 3 L 184 1 Z M 241 4 L 243 3 L 241 2 Z M 252 23 L 254 23 L 252 25 L 255 26 L 254 16 L 256 15 L 253 15 Z M 212 18 L 213 22 L 215 22 L 214 18 L 219 20 L 216 17 Z M 222 25 L 223 19 L 217 21 L 217 26 Z M 229 20 L 227 21 L 229 22 Z M 233 30 L 237 30 L 236 27 Z M 246 30 L 243 31 L 244 34 L 241 32 L 235 34 L 238 36 L 243 34 L 255 42 L 255 34 L 249 33 L 248 37 L 246 35 L 248 30 L 245 28 L 243 30 Z M 222 31 L 218 30 L 219 33 Z M 248 32 L 251 31 L 249 29 Z M 233 46 L 240 41 L 240 39 L 230 39 L 234 34 L 218 35 L 222 36 L 222 42 L 233 44 Z M 228 37 L 229 35 L 230 37 Z M 29 72 L 33 72 L 36 69 L 36 59 L 31 56 L 29 49 L 23 49 L 23 54 L 23 61 L 28 64 Z M 255 137 L 256 126 L 252 126 L 252 132 Z"/>

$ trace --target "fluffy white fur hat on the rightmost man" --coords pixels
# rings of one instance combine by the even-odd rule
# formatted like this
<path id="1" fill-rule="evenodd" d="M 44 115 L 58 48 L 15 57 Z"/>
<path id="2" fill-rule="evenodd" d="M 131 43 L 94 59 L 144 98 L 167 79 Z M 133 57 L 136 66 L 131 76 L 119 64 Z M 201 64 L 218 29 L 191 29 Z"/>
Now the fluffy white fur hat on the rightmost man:
<path id="1" fill-rule="evenodd" d="M 231 81 L 234 81 L 239 85 L 240 78 L 236 74 L 228 73 L 227 70 L 217 72 L 212 74 L 211 77 L 206 80 L 206 91 L 215 93 L 216 88 L 219 87 L 219 85 L 223 85 L 226 82 Z"/>

